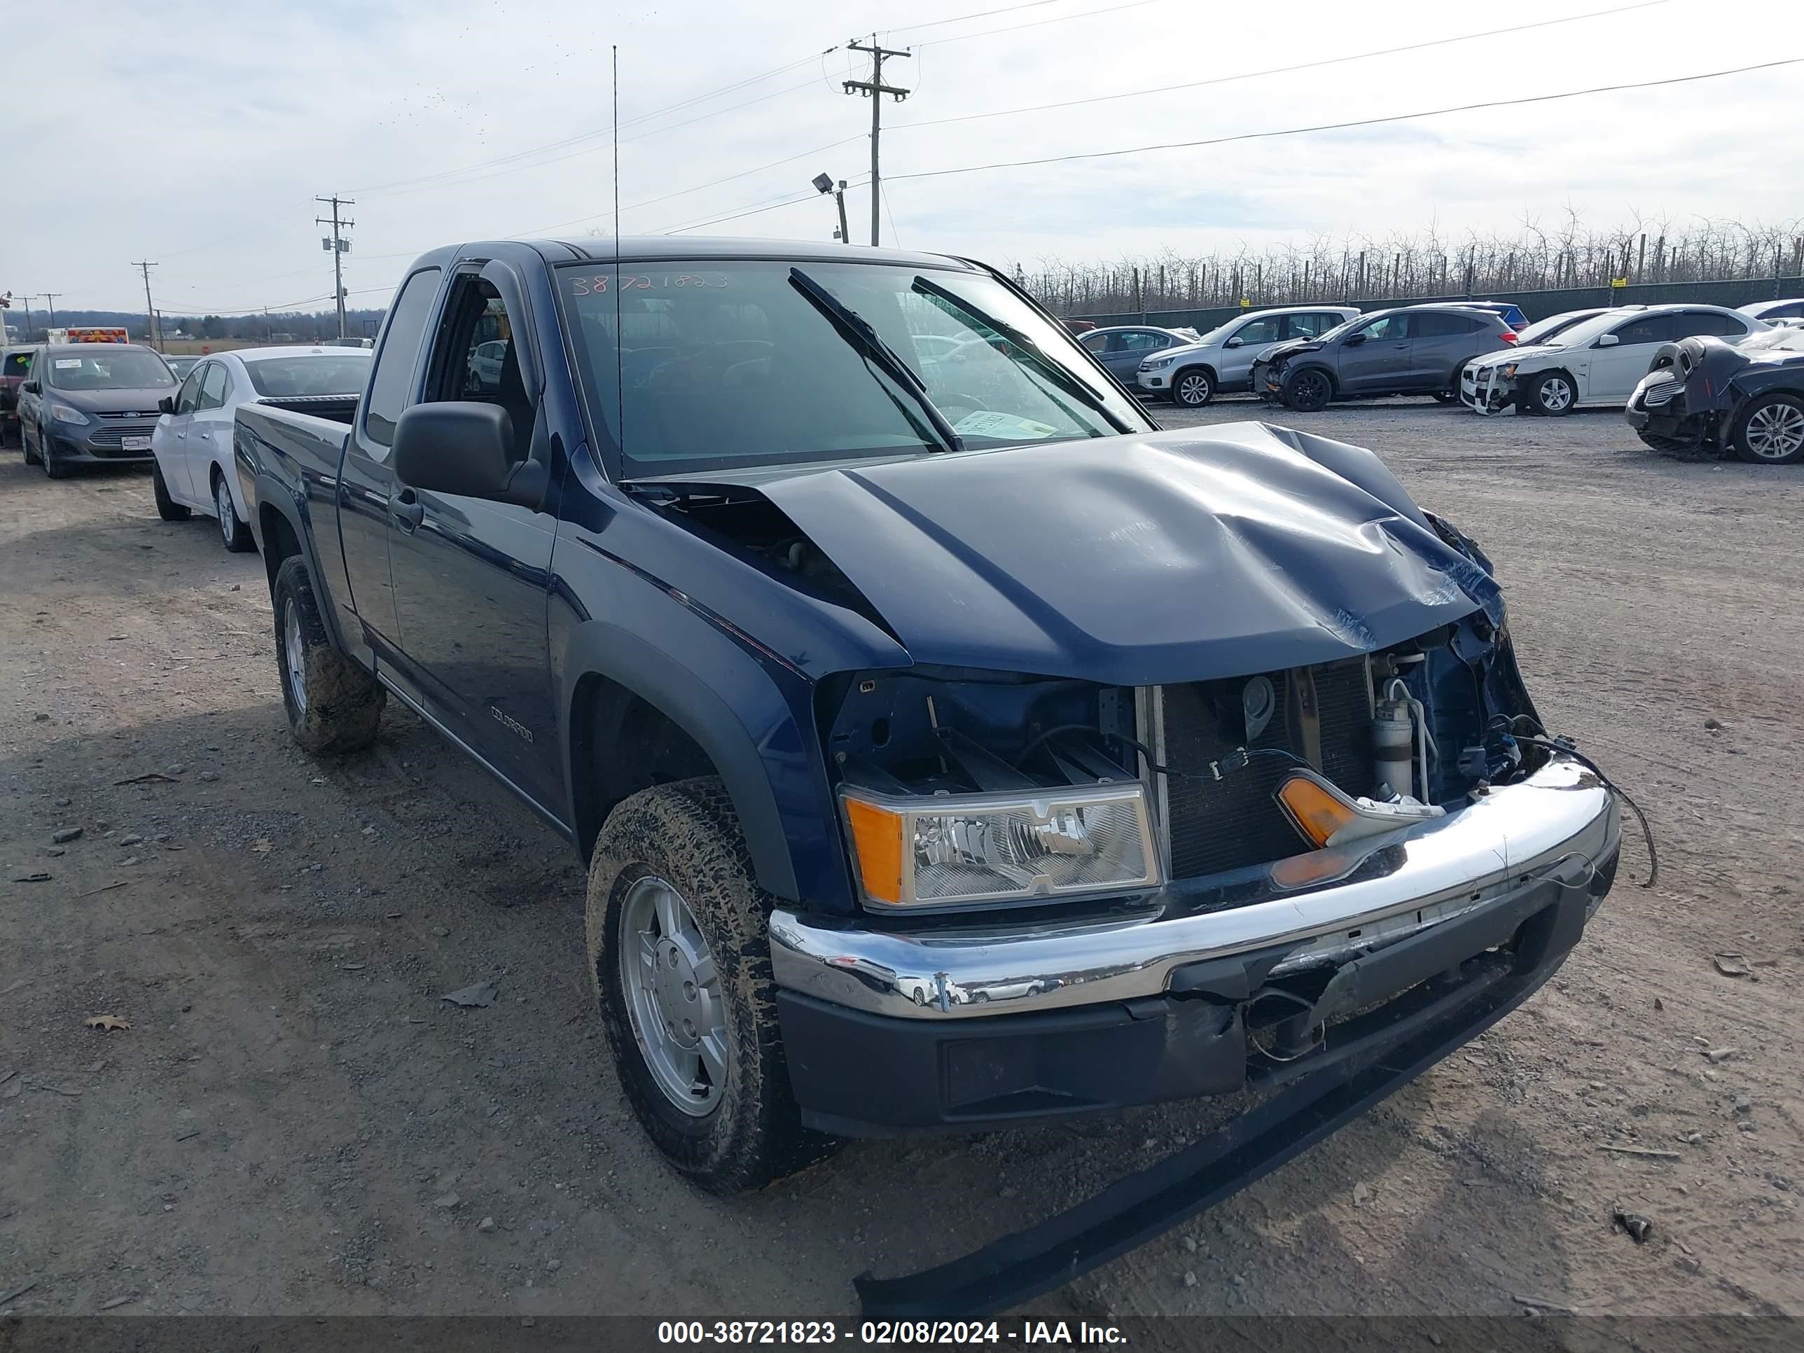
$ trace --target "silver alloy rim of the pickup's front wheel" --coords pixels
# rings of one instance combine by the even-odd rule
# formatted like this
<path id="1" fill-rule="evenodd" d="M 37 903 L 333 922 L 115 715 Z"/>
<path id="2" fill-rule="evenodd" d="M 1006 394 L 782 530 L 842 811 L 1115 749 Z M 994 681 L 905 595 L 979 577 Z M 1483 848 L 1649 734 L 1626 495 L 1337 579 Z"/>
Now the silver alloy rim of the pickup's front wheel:
<path id="1" fill-rule="evenodd" d="M 621 987 L 646 1070 L 671 1104 L 705 1117 L 727 1084 L 727 1007 L 707 940 L 655 875 L 633 882 L 621 911 Z"/>

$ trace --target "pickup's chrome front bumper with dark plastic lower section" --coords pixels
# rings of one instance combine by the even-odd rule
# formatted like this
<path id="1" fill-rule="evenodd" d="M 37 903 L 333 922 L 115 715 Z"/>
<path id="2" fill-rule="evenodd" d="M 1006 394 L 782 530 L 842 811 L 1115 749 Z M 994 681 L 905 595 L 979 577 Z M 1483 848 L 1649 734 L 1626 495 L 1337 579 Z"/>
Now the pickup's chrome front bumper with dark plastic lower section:
<path id="1" fill-rule="evenodd" d="M 790 1079 L 810 1126 L 891 1135 L 1308 1072 L 1344 1055 L 1355 1010 L 1369 1045 L 1384 1010 L 1431 978 L 1474 960 L 1519 969 L 1530 924 L 1582 895 L 1584 915 L 1535 960 L 1557 967 L 1609 888 L 1618 841 L 1611 792 L 1555 754 L 1447 817 L 1178 880 L 1106 920 L 879 929 L 779 909 Z"/>

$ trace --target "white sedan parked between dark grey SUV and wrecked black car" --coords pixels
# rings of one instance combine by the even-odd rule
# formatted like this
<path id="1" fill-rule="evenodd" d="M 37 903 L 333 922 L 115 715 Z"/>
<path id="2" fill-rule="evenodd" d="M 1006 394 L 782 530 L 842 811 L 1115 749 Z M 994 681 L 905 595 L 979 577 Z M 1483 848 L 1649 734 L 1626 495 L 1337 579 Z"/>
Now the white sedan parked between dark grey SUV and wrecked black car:
<path id="1" fill-rule="evenodd" d="M 1661 343 L 1708 334 L 1741 343 L 1766 323 L 1723 305 L 1649 305 L 1604 310 L 1544 343 L 1488 352 L 1459 372 L 1459 402 L 1477 413 L 1512 404 L 1560 415 L 1580 406 L 1622 408 Z"/>

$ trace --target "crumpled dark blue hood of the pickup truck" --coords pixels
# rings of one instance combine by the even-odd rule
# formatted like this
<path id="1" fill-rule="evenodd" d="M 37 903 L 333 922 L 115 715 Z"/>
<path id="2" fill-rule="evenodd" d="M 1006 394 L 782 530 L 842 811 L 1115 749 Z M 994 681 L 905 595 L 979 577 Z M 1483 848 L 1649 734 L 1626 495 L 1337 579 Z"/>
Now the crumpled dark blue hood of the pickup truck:
<path id="1" fill-rule="evenodd" d="M 1153 686 L 1503 615 L 1376 456 L 1266 424 L 799 465 L 758 489 L 916 664 Z"/>

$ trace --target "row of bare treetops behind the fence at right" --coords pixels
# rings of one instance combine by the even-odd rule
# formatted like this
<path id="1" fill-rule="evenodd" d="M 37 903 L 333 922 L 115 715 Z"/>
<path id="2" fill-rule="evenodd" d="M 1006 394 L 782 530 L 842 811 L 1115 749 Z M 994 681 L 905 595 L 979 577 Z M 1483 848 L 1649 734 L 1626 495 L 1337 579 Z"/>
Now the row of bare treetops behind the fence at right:
<path id="1" fill-rule="evenodd" d="M 1369 296 L 1501 296 L 1515 290 L 1642 281 L 1723 281 L 1804 271 L 1804 220 L 1643 218 L 1613 229 L 1577 213 L 1544 227 L 1533 216 L 1503 233 L 1443 236 L 1436 227 L 1384 236 L 1319 235 L 1301 245 L 1183 256 L 1174 249 L 1118 262 L 1043 258 L 1019 281 L 1059 314 L 1183 310 L 1335 301 Z"/>

